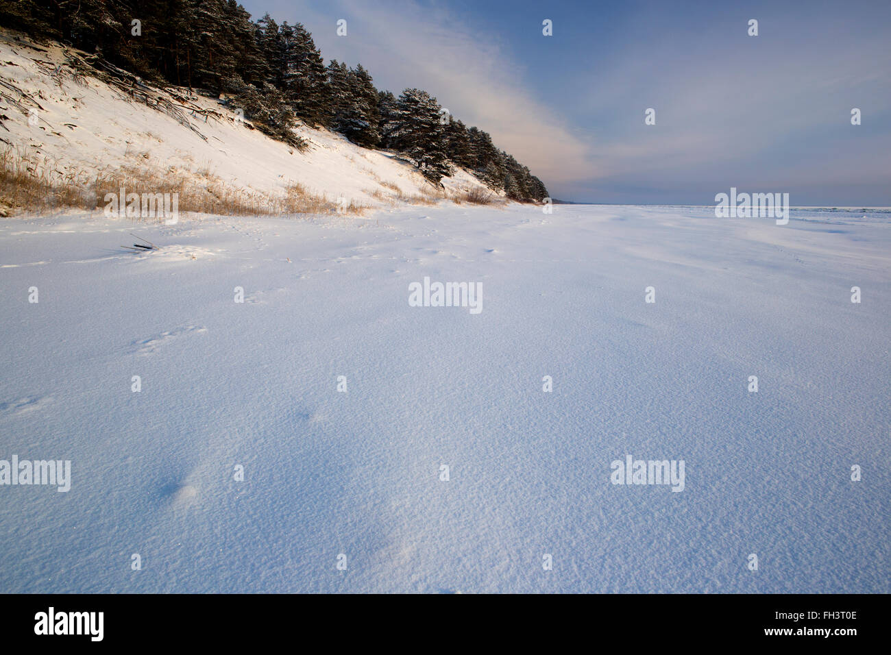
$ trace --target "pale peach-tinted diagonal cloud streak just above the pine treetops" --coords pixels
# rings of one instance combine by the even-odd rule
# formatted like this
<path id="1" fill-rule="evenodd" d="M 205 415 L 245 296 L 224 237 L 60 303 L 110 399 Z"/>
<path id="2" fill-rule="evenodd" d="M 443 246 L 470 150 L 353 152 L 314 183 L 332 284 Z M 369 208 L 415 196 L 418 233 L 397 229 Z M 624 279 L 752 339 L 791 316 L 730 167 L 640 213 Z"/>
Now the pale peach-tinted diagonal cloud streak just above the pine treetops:
<path id="1" fill-rule="evenodd" d="M 326 60 L 362 63 L 379 88 L 397 95 L 413 86 L 429 91 L 455 118 L 492 135 L 495 145 L 545 184 L 592 176 L 590 145 L 554 111 L 554 99 L 535 97 L 527 71 L 496 35 L 446 8 L 409 0 L 346 0 L 324 12 L 282 3 L 274 15 L 302 21 Z M 335 33 L 341 17 L 347 37 Z"/>

